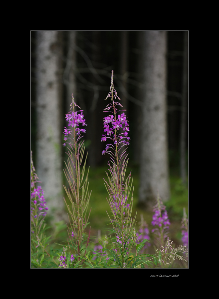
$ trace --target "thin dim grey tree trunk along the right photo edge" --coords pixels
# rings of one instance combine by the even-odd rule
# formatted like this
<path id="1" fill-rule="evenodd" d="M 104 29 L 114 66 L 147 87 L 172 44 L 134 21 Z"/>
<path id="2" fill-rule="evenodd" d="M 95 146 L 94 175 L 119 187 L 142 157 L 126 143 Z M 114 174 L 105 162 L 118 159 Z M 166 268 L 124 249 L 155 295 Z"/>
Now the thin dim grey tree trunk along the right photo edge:
<path id="1" fill-rule="evenodd" d="M 184 32 L 182 111 L 180 128 L 180 175 L 186 184 L 186 116 L 188 105 L 188 31 Z"/>

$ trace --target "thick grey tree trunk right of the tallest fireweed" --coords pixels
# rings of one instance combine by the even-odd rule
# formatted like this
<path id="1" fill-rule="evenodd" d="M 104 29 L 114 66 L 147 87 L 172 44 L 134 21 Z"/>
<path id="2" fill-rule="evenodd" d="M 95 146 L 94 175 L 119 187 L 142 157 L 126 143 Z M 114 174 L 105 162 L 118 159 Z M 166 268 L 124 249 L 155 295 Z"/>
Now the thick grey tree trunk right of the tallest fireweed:
<path id="1" fill-rule="evenodd" d="M 157 190 L 169 199 L 166 123 L 166 31 L 144 31 L 144 96 L 139 205 L 150 208 Z"/>

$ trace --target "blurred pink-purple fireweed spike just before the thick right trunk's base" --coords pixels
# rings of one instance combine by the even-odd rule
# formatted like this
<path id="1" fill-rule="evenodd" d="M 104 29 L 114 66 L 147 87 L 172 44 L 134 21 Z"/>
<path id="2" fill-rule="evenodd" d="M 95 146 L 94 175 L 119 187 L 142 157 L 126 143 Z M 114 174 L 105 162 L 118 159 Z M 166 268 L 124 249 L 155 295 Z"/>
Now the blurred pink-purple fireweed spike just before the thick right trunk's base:
<path id="1" fill-rule="evenodd" d="M 163 205 L 163 202 L 160 198 L 159 193 L 157 195 L 157 203 L 154 206 L 153 211 L 155 213 L 152 217 L 153 220 L 152 220 L 151 224 L 153 226 L 158 226 L 158 228 L 156 227 L 156 228 L 152 229 L 152 233 L 155 233 L 156 237 L 157 237 L 155 244 L 157 246 L 164 246 L 164 242 L 165 242 L 165 239 L 168 234 L 170 222 L 168 219 L 166 207 Z M 164 212 L 162 213 L 162 211 L 164 211 Z"/>

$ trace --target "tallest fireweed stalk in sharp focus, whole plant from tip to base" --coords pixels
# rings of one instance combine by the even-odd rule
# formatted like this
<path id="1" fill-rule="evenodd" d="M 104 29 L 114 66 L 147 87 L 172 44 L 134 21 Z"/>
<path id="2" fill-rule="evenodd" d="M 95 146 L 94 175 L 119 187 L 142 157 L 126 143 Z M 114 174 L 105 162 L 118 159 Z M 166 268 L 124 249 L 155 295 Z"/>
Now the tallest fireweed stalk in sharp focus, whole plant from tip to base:
<path id="1" fill-rule="evenodd" d="M 124 182 L 128 163 L 128 154 L 126 154 L 126 149 L 124 149 L 124 147 L 129 145 L 129 124 L 126 115 L 122 112 L 126 110 L 120 109 L 123 106 L 119 102 L 116 102 L 117 100 L 120 100 L 120 98 L 114 89 L 113 71 L 111 76 L 110 92 L 105 100 L 108 98 L 111 98 L 111 103 L 109 103 L 107 108 L 104 109 L 104 112 L 109 113 L 109 115 L 104 117 L 105 134 L 102 135 L 103 137 L 101 138 L 101 141 L 107 141 L 107 139 L 109 139 L 110 142 L 107 144 L 102 154 L 105 155 L 108 153 L 111 156 L 110 161 L 107 164 L 109 166 L 109 175 L 106 172 L 108 181 L 104 181 L 109 194 L 107 201 L 109 203 L 113 219 L 111 219 L 112 217 L 110 217 L 108 213 L 107 214 L 113 226 L 111 231 L 115 233 L 115 238 L 112 239 L 113 256 L 115 257 L 114 260 L 120 268 L 126 268 L 129 262 L 129 253 L 131 252 L 133 245 L 136 243 L 134 230 L 136 215 L 134 219 L 132 219 L 132 196 L 128 203 L 132 188 L 132 182 L 129 186 L 131 172 Z M 119 250 L 116 248 L 119 248 Z"/>

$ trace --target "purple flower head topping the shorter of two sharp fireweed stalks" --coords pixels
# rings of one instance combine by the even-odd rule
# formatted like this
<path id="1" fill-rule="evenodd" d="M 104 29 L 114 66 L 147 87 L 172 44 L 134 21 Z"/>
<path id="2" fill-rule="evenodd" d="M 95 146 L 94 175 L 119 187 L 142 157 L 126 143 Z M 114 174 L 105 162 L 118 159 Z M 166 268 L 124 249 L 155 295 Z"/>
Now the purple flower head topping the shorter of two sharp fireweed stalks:
<path id="1" fill-rule="evenodd" d="M 77 106 L 78 108 L 81 109 L 81 107 L 79 107 L 78 105 L 76 105 L 75 101 L 74 101 L 74 97 L 72 94 L 72 98 L 73 98 L 73 102 L 74 102 L 74 106 Z M 68 126 L 75 128 L 75 134 L 76 136 L 78 136 L 79 138 L 77 139 L 77 141 L 82 137 L 81 133 L 85 133 L 86 129 L 80 129 L 78 128 L 79 123 L 82 123 L 83 126 L 87 126 L 86 124 L 86 120 L 84 119 L 84 115 L 82 114 L 84 110 L 78 110 L 76 112 L 74 111 L 70 111 L 68 114 L 66 114 L 66 121 L 68 122 Z M 81 112 L 81 113 L 78 113 Z M 67 129 L 66 127 L 64 127 L 64 141 L 67 141 L 67 139 L 69 139 L 70 137 L 68 137 L 69 134 L 72 135 L 72 131 L 70 129 Z M 66 145 L 66 143 L 63 144 L 64 146 Z"/>

